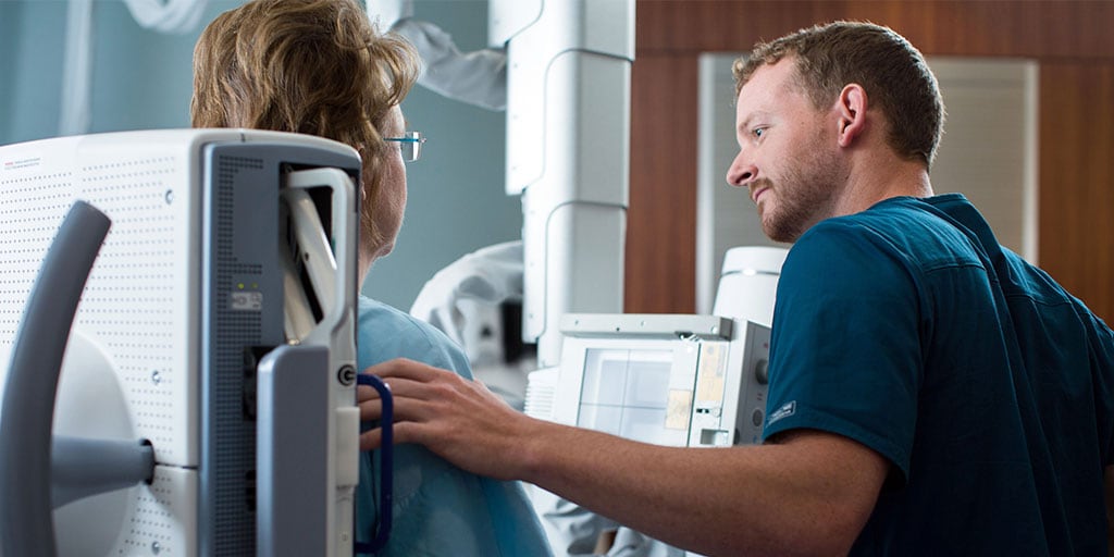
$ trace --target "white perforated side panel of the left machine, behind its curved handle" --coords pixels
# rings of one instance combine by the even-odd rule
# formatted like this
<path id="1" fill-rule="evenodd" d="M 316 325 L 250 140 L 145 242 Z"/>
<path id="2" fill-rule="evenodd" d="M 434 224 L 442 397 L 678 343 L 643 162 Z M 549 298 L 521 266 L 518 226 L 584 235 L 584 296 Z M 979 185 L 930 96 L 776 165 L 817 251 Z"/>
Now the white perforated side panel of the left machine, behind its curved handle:
<path id="1" fill-rule="evenodd" d="M 75 329 L 111 358 L 135 434 L 152 441 L 156 460 L 190 468 L 198 461 L 193 426 L 197 326 L 196 310 L 189 311 L 197 296 L 190 262 L 197 258 L 198 234 L 190 219 L 198 214 L 199 194 L 188 173 L 199 167 L 195 157 L 189 138 L 175 134 L 111 134 L 0 148 L 0 237 L 6 238 L 0 243 L 0 343 L 13 342 L 39 264 L 70 205 L 78 198 L 92 204 L 113 226 Z M 196 470 L 173 472 L 182 475 L 196 476 Z M 167 481 L 165 476 L 164 469 L 153 486 L 133 490 L 130 527 L 117 547 L 121 555 L 154 555 L 154 549 L 188 555 L 184 548 L 194 545 L 193 530 L 178 528 L 196 521 L 190 508 L 196 479 Z M 194 491 L 168 491 L 189 486 Z"/>

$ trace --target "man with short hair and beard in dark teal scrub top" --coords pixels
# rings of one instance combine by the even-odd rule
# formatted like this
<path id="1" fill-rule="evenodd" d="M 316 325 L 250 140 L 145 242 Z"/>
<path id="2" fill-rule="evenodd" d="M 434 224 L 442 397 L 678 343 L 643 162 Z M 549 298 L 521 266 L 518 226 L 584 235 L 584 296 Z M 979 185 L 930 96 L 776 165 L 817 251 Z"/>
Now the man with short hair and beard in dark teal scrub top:
<path id="1" fill-rule="evenodd" d="M 934 195 L 945 110 L 920 52 L 836 22 L 734 70 L 727 182 L 794 243 L 764 442 L 637 443 L 392 361 L 369 371 L 395 439 L 705 555 L 1106 555 L 1114 336 L 962 196 Z"/>

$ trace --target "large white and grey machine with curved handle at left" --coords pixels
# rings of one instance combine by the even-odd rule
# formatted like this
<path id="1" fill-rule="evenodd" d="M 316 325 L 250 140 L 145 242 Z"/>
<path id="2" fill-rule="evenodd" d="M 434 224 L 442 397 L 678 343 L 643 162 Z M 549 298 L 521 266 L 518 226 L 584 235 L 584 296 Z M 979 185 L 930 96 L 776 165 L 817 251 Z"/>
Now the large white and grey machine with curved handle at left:
<path id="1" fill-rule="evenodd" d="M 0 147 L 6 555 L 352 555 L 360 169 L 237 129 Z"/>

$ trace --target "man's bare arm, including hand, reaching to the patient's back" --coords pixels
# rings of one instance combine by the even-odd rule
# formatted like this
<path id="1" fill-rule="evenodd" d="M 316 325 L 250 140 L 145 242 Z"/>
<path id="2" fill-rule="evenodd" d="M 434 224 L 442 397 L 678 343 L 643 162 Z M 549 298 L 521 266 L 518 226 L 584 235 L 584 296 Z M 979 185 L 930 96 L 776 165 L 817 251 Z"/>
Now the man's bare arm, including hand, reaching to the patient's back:
<path id="1" fill-rule="evenodd" d="M 368 372 L 394 394 L 397 442 L 472 472 L 536 483 L 663 541 L 707 555 L 846 554 L 889 469 L 819 431 L 730 449 L 659 447 L 521 414 L 481 383 L 393 360 Z M 363 419 L 379 401 L 361 391 Z M 362 449 L 378 447 L 364 433 Z"/>

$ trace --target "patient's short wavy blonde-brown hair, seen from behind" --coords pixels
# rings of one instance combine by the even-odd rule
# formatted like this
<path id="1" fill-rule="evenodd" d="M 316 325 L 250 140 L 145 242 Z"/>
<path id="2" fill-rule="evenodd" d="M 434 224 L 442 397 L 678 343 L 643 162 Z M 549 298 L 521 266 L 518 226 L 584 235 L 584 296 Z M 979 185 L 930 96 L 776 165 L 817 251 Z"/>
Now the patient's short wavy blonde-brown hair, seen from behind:
<path id="1" fill-rule="evenodd" d="M 254 0 L 218 16 L 194 49 L 194 127 L 294 131 L 354 147 L 363 160 L 361 250 L 385 240 L 371 218 L 390 110 L 418 79 L 413 47 L 379 33 L 352 0 Z"/>

